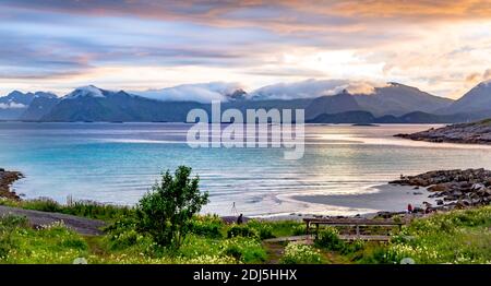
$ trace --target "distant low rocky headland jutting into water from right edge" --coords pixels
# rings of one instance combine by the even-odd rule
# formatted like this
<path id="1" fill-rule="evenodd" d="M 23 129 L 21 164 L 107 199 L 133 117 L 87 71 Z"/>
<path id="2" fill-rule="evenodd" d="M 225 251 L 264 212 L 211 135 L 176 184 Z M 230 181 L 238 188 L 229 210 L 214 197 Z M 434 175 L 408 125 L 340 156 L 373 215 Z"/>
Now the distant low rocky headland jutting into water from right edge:
<path id="1" fill-rule="evenodd" d="M 394 136 L 435 143 L 491 144 L 491 119 Z"/>

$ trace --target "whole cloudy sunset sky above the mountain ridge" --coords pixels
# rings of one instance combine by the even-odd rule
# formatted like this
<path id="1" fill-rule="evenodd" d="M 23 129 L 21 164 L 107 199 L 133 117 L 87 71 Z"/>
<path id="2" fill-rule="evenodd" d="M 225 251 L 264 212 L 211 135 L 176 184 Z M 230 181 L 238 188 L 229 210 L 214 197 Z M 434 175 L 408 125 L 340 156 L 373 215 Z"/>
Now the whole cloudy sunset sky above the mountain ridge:
<path id="1" fill-rule="evenodd" d="M 491 0 L 0 0 L 0 95 L 310 79 L 458 98 L 491 79 Z"/>

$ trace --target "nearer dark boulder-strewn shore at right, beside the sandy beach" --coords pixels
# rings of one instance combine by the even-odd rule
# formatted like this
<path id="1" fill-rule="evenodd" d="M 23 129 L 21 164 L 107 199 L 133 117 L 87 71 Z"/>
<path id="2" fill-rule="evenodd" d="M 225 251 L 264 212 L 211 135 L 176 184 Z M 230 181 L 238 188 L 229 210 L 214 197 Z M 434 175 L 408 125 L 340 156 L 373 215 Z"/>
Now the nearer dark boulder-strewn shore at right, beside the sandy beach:
<path id="1" fill-rule="evenodd" d="M 402 176 L 393 184 L 427 188 L 436 198 L 436 205 L 427 204 L 427 211 L 450 211 L 491 203 L 491 170 L 435 170 L 417 176 Z M 418 210 L 417 210 L 418 211 Z"/>

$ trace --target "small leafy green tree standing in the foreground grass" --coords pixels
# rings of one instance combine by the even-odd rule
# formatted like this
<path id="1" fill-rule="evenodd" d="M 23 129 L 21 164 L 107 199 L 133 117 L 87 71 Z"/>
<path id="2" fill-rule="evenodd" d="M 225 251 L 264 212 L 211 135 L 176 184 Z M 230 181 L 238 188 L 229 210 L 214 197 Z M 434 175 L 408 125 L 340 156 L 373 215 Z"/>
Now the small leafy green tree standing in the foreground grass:
<path id="1" fill-rule="evenodd" d="M 208 193 L 200 192 L 200 178 L 190 178 L 191 170 L 179 166 L 173 177 L 167 170 L 136 206 L 139 229 L 148 233 L 160 246 L 179 248 L 193 215 L 208 203 Z"/>

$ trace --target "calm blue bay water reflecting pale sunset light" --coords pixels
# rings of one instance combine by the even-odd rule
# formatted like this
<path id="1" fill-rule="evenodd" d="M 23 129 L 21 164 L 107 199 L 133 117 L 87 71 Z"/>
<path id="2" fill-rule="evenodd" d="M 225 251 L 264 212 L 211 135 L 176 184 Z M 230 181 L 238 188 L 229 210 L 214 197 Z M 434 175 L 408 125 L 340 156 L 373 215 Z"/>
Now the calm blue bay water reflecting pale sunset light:
<path id="1" fill-rule="evenodd" d="M 204 212 L 220 215 L 230 215 L 233 202 L 246 215 L 398 210 L 405 201 L 387 200 L 395 190 L 382 198 L 379 186 L 402 174 L 491 168 L 489 146 L 393 138 L 432 126 L 307 126 L 299 160 L 285 160 L 283 148 L 191 148 L 190 127 L 2 122 L 0 167 L 26 176 L 14 186 L 26 198 L 134 204 L 161 170 L 188 165 L 211 194 Z"/>

